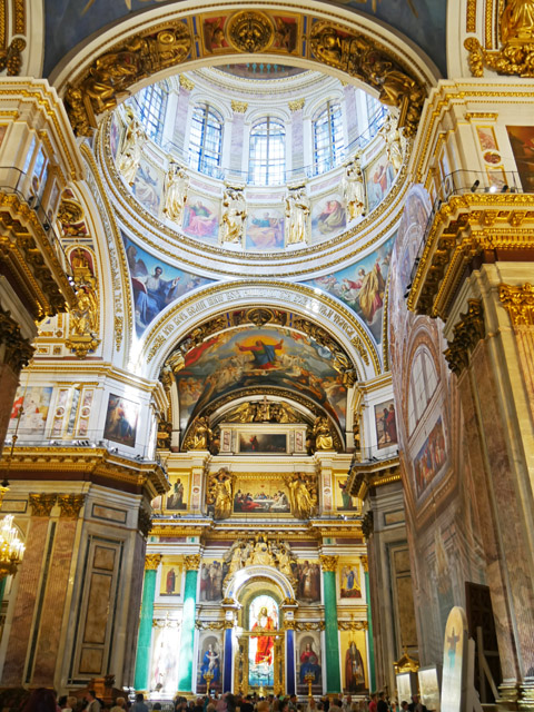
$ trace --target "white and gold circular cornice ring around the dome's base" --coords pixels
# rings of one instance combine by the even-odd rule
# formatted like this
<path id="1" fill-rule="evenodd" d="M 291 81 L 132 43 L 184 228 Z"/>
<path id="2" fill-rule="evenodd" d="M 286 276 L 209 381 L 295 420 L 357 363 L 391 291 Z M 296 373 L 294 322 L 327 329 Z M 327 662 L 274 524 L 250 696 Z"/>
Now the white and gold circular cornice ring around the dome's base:
<path id="1" fill-rule="evenodd" d="M 118 176 L 115 161 L 109 150 L 110 120 L 111 119 L 108 117 L 102 121 L 102 126 L 97 135 L 96 152 L 99 156 L 102 167 L 106 168 L 103 172 L 106 182 L 109 186 L 109 190 L 113 196 L 115 201 L 120 208 L 119 215 L 125 221 L 128 231 L 141 244 L 150 246 L 152 249 L 158 250 L 158 253 L 165 255 L 171 260 L 176 260 L 177 246 L 179 246 L 180 263 L 187 265 L 196 273 L 198 273 L 199 268 L 204 270 L 214 269 L 212 265 L 215 265 L 216 274 L 234 277 L 236 275 L 236 268 L 243 270 L 244 265 L 240 260 L 245 259 L 247 263 L 253 264 L 264 263 L 265 277 L 279 276 L 280 268 L 284 267 L 290 270 L 291 276 L 297 275 L 305 278 L 305 275 L 316 273 L 319 269 L 323 273 L 328 268 L 333 269 L 344 263 L 354 261 L 358 254 L 367 251 L 385 236 L 390 235 L 396 222 L 398 222 L 400 218 L 400 210 L 404 207 L 404 199 L 409 188 L 406 179 L 407 160 L 412 142 L 408 139 L 405 151 L 405 162 L 395 177 L 393 188 L 379 206 L 369 212 L 357 226 L 346 230 L 333 239 L 307 248 L 298 249 L 290 255 L 280 250 L 276 253 L 260 254 L 249 251 L 236 255 L 236 253 L 229 253 L 221 247 L 207 244 L 199 245 L 198 240 L 189 238 L 181 233 L 176 233 L 169 228 L 168 225 L 158 220 L 154 215 L 151 215 L 151 212 L 142 208 L 142 206 L 137 202 L 135 197 L 126 188 L 123 181 Z M 142 231 L 137 229 L 137 225 L 142 226 Z M 384 227 L 380 230 L 376 230 L 377 225 L 383 225 Z M 345 251 L 347 247 L 352 248 L 349 257 L 347 257 Z M 336 256 L 338 253 L 340 253 L 340 255 Z M 214 256 L 214 261 L 210 267 L 202 267 L 199 264 L 199 258 L 205 258 L 206 254 Z M 316 259 L 318 256 L 322 257 L 320 267 L 317 264 L 315 266 L 309 266 L 310 258 Z"/>

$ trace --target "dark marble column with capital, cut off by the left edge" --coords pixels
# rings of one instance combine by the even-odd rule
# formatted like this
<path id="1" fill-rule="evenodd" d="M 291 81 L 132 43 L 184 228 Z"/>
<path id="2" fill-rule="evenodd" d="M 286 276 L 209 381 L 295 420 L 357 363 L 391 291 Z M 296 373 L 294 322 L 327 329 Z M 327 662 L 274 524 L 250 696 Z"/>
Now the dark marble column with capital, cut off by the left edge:
<path id="1" fill-rule="evenodd" d="M 22 366 L 27 366 L 33 347 L 23 338 L 10 312 L 0 307 L 0 455 Z"/>

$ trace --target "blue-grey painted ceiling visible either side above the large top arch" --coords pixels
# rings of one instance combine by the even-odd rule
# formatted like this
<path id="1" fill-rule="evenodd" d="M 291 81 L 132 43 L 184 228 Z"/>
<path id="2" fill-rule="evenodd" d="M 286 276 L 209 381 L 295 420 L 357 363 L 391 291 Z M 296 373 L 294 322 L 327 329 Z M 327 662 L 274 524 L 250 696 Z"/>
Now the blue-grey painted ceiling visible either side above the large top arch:
<path id="1" fill-rule="evenodd" d="M 44 0 L 46 52 L 43 75 L 78 43 L 107 26 L 142 13 L 150 6 L 175 4 L 176 0 Z M 178 4 L 178 3 L 176 3 Z M 334 0 L 333 4 L 353 9 L 392 26 L 418 44 L 446 72 L 445 0 Z"/>

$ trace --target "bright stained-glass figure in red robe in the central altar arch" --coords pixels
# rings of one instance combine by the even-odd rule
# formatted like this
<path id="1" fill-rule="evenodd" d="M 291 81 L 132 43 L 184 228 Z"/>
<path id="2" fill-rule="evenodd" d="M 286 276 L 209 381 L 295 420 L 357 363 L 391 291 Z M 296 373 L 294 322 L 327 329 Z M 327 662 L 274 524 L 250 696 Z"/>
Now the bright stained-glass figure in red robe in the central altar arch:
<path id="1" fill-rule="evenodd" d="M 248 624 L 253 633 L 248 644 L 248 685 L 273 688 L 275 637 L 254 635 L 257 629 L 261 632 L 279 630 L 278 604 L 273 596 L 261 594 L 253 599 L 248 609 Z"/>

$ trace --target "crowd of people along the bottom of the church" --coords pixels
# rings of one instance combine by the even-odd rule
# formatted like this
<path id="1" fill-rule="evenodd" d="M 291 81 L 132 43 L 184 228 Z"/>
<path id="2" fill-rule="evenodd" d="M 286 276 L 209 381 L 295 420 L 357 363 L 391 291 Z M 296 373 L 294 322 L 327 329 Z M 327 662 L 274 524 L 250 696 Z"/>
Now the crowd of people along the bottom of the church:
<path id="1" fill-rule="evenodd" d="M 21 712 L 158 712 L 160 702 L 145 702 L 144 695 L 138 693 L 136 701 L 130 702 L 127 696 L 118 696 L 112 704 L 107 704 L 97 698 L 93 690 L 88 690 L 82 696 L 57 698 L 53 690 L 39 688 L 33 690 L 29 699 L 21 708 Z M 234 695 L 229 692 L 218 695 L 212 692 L 209 695 L 187 700 L 177 696 L 172 704 L 165 703 L 165 712 L 427 712 L 417 695 L 412 696 L 412 702 L 398 704 L 390 700 L 385 692 L 373 693 L 370 698 L 353 700 L 345 695 L 342 699 L 314 696 L 298 700 L 296 694 L 276 696 L 269 694 L 265 698 L 256 693 L 248 695 Z"/>

